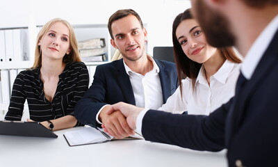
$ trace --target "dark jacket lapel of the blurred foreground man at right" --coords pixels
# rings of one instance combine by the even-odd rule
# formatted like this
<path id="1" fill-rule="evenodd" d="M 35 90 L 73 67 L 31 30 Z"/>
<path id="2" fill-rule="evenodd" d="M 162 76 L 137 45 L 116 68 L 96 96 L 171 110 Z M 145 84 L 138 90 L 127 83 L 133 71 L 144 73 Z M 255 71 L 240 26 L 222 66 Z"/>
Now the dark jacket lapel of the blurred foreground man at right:
<path id="1" fill-rule="evenodd" d="M 267 77 L 269 71 L 271 71 L 273 65 L 277 63 L 275 59 L 278 56 L 278 31 L 275 33 L 272 42 L 268 49 L 263 54 L 261 61 L 254 70 L 252 78 L 247 81 L 244 88 L 240 90 L 239 96 L 236 95 L 234 98 L 234 105 L 229 110 L 227 117 L 227 134 L 226 134 L 226 145 L 229 145 L 231 137 L 236 134 L 238 127 L 243 123 L 246 111 L 246 105 L 248 100 L 252 97 L 254 90 L 263 82 L 263 78 Z"/>

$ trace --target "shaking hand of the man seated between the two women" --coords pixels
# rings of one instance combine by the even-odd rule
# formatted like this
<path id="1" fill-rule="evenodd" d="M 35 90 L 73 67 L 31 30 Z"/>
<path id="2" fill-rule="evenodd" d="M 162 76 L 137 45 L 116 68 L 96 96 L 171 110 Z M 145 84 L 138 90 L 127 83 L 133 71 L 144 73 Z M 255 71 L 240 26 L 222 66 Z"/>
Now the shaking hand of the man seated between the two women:
<path id="1" fill-rule="evenodd" d="M 105 106 L 99 113 L 99 120 L 103 123 L 102 127 L 105 127 L 106 132 L 115 138 L 133 135 L 133 130 L 127 125 L 126 118 L 120 111 L 114 111 L 110 115 L 106 114 L 110 108 L 111 106 Z"/>

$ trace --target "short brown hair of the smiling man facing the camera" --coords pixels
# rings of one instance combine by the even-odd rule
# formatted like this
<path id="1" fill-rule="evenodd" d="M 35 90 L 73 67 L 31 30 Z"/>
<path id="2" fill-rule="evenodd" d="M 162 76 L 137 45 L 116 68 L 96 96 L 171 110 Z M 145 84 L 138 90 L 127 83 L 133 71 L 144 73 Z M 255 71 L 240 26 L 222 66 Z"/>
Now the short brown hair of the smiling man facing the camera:
<path id="1" fill-rule="evenodd" d="M 108 31 L 113 40 L 114 40 L 114 37 L 113 37 L 112 29 L 111 29 L 112 23 L 118 19 L 122 19 L 123 17 L 129 16 L 129 15 L 134 15 L 140 22 L 141 28 L 142 29 L 144 28 L 142 20 L 141 20 L 140 16 L 138 15 L 138 13 L 136 13 L 136 11 L 134 11 L 132 9 L 117 10 L 117 12 L 115 12 L 113 15 L 111 15 L 111 17 L 109 17 L 109 20 L 108 20 Z"/>

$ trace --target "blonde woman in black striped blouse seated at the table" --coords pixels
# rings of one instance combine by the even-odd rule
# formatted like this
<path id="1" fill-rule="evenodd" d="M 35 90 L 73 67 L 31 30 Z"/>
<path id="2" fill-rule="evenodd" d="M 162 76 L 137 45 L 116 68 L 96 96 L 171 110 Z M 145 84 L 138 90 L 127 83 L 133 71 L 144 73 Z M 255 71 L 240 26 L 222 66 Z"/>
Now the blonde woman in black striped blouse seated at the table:
<path id="1" fill-rule="evenodd" d="M 81 62 L 72 26 L 52 19 L 42 26 L 33 67 L 17 75 L 6 120 L 21 120 L 27 100 L 30 119 L 54 131 L 79 125 L 74 106 L 88 89 L 88 70 Z"/>

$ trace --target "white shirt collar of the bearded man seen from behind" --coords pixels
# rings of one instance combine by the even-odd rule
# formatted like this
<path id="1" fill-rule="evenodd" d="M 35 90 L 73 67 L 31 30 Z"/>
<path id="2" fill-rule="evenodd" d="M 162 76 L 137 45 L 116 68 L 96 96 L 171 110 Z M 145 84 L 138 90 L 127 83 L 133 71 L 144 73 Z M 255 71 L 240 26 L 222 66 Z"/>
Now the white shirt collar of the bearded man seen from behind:
<path id="1" fill-rule="evenodd" d="M 268 45 L 270 45 L 270 42 L 275 32 L 277 31 L 277 27 L 278 15 L 276 15 L 276 17 L 272 19 L 270 24 L 268 24 L 268 26 L 265 27 L 265 29 L 261 32 L 259 37 L 256 38 L 250 50 L 247 52 L 243 60 L 243 65 L 241 67 L 241 72 L 243 73 L 246 79 L 251 79 L 252 74 L 256 69 L 256 66 L 258 65 L 259 61 L 261 60 L 261 57 L 263 56 L 263 53 L 268 48 Z"/>

